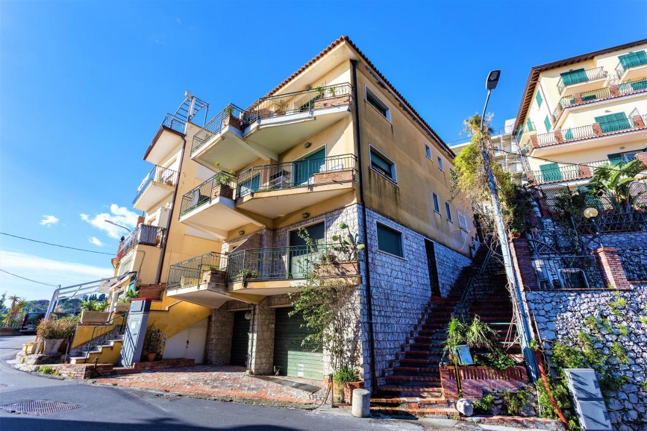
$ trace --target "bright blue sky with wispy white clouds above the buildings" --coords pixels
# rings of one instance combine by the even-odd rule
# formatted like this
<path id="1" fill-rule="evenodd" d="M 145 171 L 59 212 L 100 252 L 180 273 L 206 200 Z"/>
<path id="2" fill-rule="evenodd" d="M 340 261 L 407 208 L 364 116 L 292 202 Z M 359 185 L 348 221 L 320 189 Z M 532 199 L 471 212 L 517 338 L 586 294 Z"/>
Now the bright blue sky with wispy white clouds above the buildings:
<path id="1" fill-rule="evenodd" d="M 614 13 L 613 11 L 618 13 Z M 516 115 L 530 67 L 646 37 L 647 3 L 0 2 L 0 230 L 116 252 L 151 166 L 142 160 L 190 89 L 247 106 L 347 34 L 446 141 L 482 109 Z M 50 217 L 48 217 L 50 216 Z M 94 222 L 94 223 L 93 223 Z M 0 236 L 0 268 L 69 285 L 110 256 Z M 0 273 L 0 293 L 50 287 Z"/>

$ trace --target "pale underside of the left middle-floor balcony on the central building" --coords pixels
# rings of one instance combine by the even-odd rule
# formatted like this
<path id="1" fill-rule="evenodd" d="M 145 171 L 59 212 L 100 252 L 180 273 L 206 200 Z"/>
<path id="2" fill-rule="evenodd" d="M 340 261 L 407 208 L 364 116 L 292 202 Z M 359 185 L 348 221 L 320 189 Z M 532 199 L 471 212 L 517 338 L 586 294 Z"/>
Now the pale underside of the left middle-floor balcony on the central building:
<path id="1" fill-rule="evenodd" d="M 219 239 L 227 238 L 230 230 L 247 225 L 247 223 L 263 226 L 258 221 L 237 212 L 234 209 L 234 201 L 222 196 L 216 197 L 211 202 L 207 201 L 184 214 L 180 217 L 180 221 Z"/>

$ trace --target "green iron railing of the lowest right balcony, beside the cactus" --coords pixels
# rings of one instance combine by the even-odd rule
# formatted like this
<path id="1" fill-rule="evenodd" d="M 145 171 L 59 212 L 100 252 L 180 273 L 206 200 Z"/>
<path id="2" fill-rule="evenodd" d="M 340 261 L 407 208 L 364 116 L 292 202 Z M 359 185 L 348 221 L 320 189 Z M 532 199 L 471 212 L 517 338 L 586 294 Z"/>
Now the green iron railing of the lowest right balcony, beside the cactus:
<path id="1" fill-rule="evenodd" d="M 331 256 L 338 262 L 358 260 L 359 256 L 351 256 L 337 247 L 338 244 L 318 244 L 315 247 L 298 245 L 234 252 L 229 255 L 227 280 L 239 282 L 299 279 L 305 278 L 307 272 L 315 271 L 319 263 L 330 259 Z M 362 251 L 358 252 L 361 253 Z M 356 267 L 344 275 L 357 275 Z"/>

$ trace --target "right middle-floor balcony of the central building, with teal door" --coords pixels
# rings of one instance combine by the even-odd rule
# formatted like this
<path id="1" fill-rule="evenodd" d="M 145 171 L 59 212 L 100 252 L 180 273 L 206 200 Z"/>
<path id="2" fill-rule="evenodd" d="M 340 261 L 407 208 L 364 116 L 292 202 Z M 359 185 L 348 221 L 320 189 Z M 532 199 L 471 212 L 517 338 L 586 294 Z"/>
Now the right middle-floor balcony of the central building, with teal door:
<path id="1" fill-rule="evenodd" d="M 356 162 L 347 154 L 255 166 L 238 176 L 236 208 L 274 219 L 342 195 L 356 187 Z"/>

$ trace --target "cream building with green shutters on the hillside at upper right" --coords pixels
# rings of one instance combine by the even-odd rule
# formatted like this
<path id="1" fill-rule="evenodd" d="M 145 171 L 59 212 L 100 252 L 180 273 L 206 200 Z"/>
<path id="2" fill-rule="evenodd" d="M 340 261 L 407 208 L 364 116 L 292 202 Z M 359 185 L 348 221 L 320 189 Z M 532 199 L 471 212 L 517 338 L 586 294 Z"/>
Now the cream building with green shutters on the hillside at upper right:
<path id="1" fill-rule="evenodd" d="M 645 151 L 646 49 L 644 39 L 531 69 L 514 125 L 531 184 L 580 188 L 598 166 Z"/>

